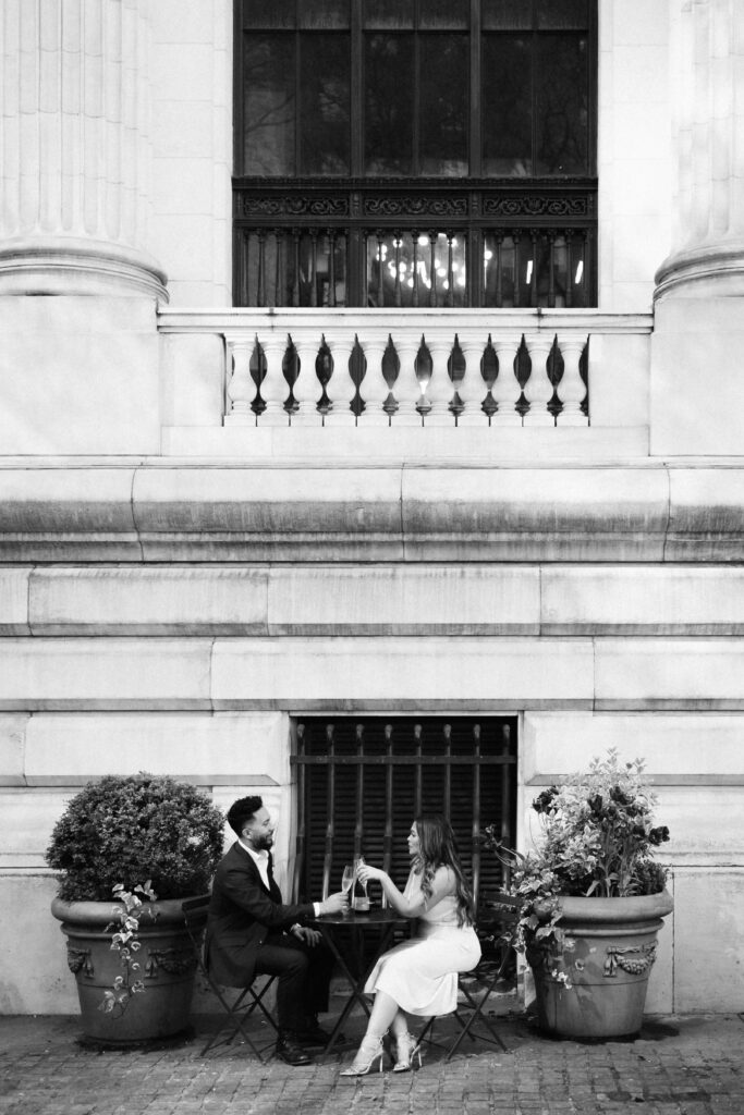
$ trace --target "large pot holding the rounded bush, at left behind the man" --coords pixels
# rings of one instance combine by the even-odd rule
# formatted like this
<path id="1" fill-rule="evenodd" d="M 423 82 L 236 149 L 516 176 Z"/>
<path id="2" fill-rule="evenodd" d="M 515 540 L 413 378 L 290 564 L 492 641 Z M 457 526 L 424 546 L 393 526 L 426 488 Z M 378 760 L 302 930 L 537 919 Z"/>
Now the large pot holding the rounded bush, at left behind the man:
<path id="1" fill-rule="evenodd" d="M 196 958 L 186 933 L 181 900 L 148 902 L 157 917 L 139 920 L 137 977 L 143 993 L 132 996 L 123 1012 L 105 1014 L 105 992 L 122 975 L 119 953 L 112 949 L 112 902 L 65 902 L 51 912 L 67 937 L 67 963 L 77 980 L 83 1028 L 87 1037 L 112 1046 L 172 1037 L 189 1024 Z"/>

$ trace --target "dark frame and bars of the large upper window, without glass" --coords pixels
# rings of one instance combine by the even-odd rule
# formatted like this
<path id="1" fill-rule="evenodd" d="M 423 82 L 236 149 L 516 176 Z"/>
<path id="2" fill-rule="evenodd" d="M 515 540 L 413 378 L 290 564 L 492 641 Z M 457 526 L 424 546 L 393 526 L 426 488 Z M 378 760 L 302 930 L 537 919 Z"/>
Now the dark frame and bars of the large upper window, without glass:
<path id="1" fill-rule="evenodd" d="M 402 234 L 422 233 L 432 236 L 461 236 L 466 242 L 466 303 L 470 307 L 514 307 L 544 306 L 582 307 L 597 304 L 597 3 L 587 0 L 589 13 L 586 30 L 588 43 L 586 91 L 588 105 L 587 144 L 588 172 L 586 175 L 549 175 L 502 177 L 483 175 L 483 122 L 481 118 L 481 67 L 483 62 L 484 36 L 496 33 L 482 26 L 482 0 L 470 0 L 470 112 L 467 133 L 468 174 L 463 177 L 446 176 L 368 176 L 365 172 L 364 122 L 364 50 L 365 29 L 360 14 L 361 0 L 350 0 L 350 105 L 351 135 L 349 142 L 350 174 L 322 177 L 319 175 L 255 176 L 244 173 L 244 71 L 243 71 L 243 6 L 250 0 L 235 3 L 235 66 L 234 66 L 234 135 L 235 175 L 233 177 L 233 229 L 234 229 L 234 290 L 236 306 L 379 306 L 383 304 L 373 290 L 371 272 L 368 266 L 368 245 L 379 234 L 399 237 Z M 296 0 L 297 4 L 307 0 Z M 532 50 L 543 31 L 537 27 L 538 4 L 533 0 L 532 21 L 529 35 Z M 414 11 L 418 12 L 418 0 Z M 416 19 L 418 17 L 416 16 Z M 299 28 L 299 19 L 291 31 L 299 42 L 301 36 L 315 33 Z M 487 22 L 487 21 L 486 21 Z M 331 28 L 325 28 L 330 31 Z M 422 31 L 436 35 L 429 28 Z M 448 33 L 442 30 L 441 33 Z M 511 30 L 505 33 L 513 33 Z M 557 29 L 544 33 L 557 33 Z M 578 30 L 577 30 L 578 33 Z M 415 32 L 417 39 L 417 32 Z M 296 59 L 299 56 L 296 54 Z M 299 60 L 296 60 L 296 100 L 301 90 L 298 86 Z M 415 88 L 418 89 L 417 83 Z M 535 81 L 531 86 L 535 97 Z M 534 106 L 533 106 L 534 108 Z M 414 152 L 419 155 L 419 114 L 414 113 Z M 535 165 L 538 127 L 532 112 L 532 166 Z M 294 129 L 296 165 L 299 146 L 299 128 Z M 414 166 L 416 169 L 416 166 Z M 331 239 L 336 252 L 331 251 Z M 542 244 L 541 254 L 550 258 L 550 283 L 543 283 L 542 291 L 531 289 L 514 292 L 511 301 L 499 301 L 494 290 L 501 290 L 501 282 L 489 282 L 484 275 L 484 243 L 486 237 L 506 237 L 513 245 Z M 571 241 L 567 249 L 567 243 Z M 444 241 L 439 241 L 444 244 Z M 555 300 L 552 279 L 554 244 L 562 245 L 562 263 L 571 275 L 579 259 L 582 262 L 580 285 L 569 289 Z M 320 244 L 320 249 L 318 245 Z M 580 248 L 577 245 L 580 244 Z M 270 246 L 273 245 L 276 262 L 267 263 Z M 299 249 L 298 249 L 299 245 Z M 327 246 L 329 260 L 325 263 L 326 275 L 312 271 L 306 288 L 299 281 L 300 249 L 305 264 L 302 273 L 308 273 L 308 261 L 312 266 Z M 341 252 L 340 263 L 330 256 Z M 514 246 L 514 253 L 518 249 Z M 264 260 L 265 255 L 265 260 Z M 568 261 L 568 262 L 567 262 Z M 547 265 L 547 264 L 545 264 Z M 555 262 L 555 266 L 558 266 Z M 264 268 L 276 273 L 263 274 Z M 322 271 L 322 266 L 320 269 Z M 330 281 L 328 273 L 330 272 Z M 292 278 L 293 275 L 293 278 Z M 533 284 L 534 285 L 534 284 Z M 339 293 L 340 291 L 340 293 Z M 404 292 L 405 294 L 405 292 Z M 385 304 L 412 304 L 400 301 L 396 294 Z M 500 297 L 500 295 L 499 295 Z M 496 299 L 496 300 L 494 300 Z M 426 299 L 413 304 L 454 306 L 452 294 L 442 290 L 437 299 L 428 303 Z"/>

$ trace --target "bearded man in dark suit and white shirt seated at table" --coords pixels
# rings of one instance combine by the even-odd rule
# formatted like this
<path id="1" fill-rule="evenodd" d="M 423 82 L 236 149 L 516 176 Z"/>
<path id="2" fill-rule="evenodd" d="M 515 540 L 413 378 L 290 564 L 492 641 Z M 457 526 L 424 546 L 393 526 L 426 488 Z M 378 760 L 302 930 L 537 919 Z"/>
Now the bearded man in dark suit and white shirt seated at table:
<path id="1" fill-rule="evenodd" d="M 273 828 L 260 797 L 241 797 L 228 812 L 238 840 L 218 865 L 206 922 L 206 963 L 220 983 L 248 987 L 257 975 L 278 976 L 277 1055 L 308 1065 L 302 1048 L 325 1045 L 318 1012 L 328 1009 L 332 956 L 307 918 L 346 909 L 344 893 L 287 905 L 272 873 Z"/>

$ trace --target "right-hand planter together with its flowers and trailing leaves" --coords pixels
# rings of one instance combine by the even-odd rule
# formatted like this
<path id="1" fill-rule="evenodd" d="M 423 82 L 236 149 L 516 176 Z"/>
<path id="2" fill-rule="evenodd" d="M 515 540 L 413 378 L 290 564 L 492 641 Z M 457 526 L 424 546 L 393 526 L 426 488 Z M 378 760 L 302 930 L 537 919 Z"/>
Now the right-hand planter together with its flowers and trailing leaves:
<path id="1" fill-rule="evenodd" d="M 654 859 L 669 838 L 654 824 L 655 806 L 644 762 L 622 764 L 610 748 L 534 799 L 537 851 L 512 852 L 485 830 L 486 847 L 511 872 L 520 909 L 513 943 L 532 968 L 538 1017 L 549 1031 L 616 1037 L 640 1029 L 660 918 L 673 909 L 666 869 Z"/>

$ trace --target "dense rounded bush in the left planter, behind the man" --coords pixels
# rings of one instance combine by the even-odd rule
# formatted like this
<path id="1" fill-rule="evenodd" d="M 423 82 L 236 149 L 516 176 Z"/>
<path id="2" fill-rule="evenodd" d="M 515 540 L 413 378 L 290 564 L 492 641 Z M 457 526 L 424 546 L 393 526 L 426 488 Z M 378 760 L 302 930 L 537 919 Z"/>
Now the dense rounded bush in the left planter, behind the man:
<path id="1" fill-rule="evenodd" d="M 141 773 L 91 782 L 51 834 L 47 863 L 66 901 L 106 902 L 142 880 L 161 899 L 201 894 L 222 855 L 224 817 L 189 783 Z M 118 892 L 117 892 L 118 893 Z"/>

